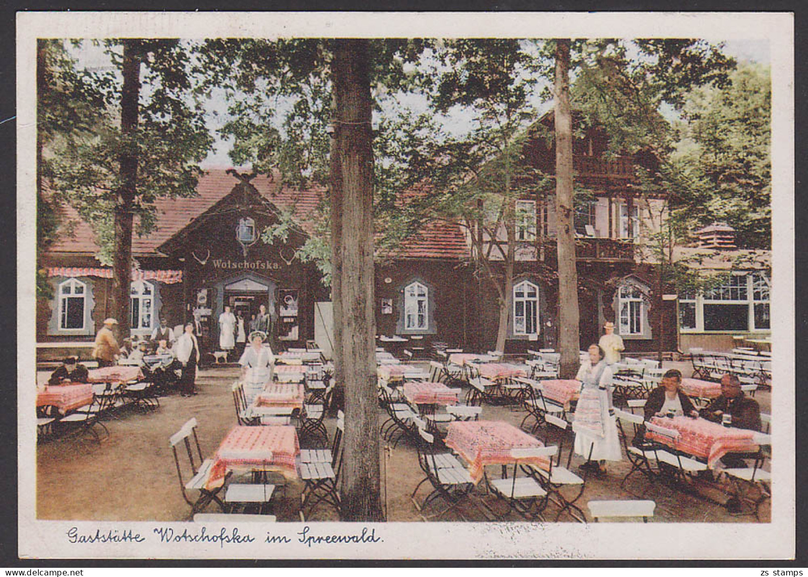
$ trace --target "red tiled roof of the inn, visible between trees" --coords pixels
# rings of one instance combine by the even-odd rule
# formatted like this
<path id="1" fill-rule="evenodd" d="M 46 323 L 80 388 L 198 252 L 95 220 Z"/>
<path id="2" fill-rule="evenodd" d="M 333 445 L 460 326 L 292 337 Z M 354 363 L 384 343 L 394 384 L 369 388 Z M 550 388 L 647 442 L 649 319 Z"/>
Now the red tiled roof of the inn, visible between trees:
<path id="1" fill-rule="evenodd" d="M 313 219 L 323 199 L 322 189 L 296 190 L 280 187 L 280 179 L 257 176 L 251 181 L 261 196 L 280 209 L 292 209 L 293 218 L 307 233 L 313 232 Z M 132 239 L 133 255 L 156 255 L 158 246 L 199 217 L 208 208 L 223 199 L 238 184 L 225 168 L 208 169 L 200 178 L 198 196 L 191 198 L 158 199 L 155 230 Z M 95 255 L 99 246 L 95 235 L 74 208 L 61 207 L 64 221 L 73 221 L 72 234 L 62 233 L 48 250 L 49 253 L 85 253 Z M 468 255 L 465 237 L 460 226 L 446 221 L 431 221 L 415 237 L 402 243 L 396 255 L 403 258 L 464 258 Z"/>

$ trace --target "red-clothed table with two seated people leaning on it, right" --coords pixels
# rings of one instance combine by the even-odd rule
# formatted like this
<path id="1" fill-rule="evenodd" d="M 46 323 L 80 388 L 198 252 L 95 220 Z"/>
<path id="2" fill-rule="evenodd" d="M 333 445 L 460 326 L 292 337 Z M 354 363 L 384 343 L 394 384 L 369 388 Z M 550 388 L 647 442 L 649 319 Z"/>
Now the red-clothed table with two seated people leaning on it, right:
<path id="1" fill-rule="evenodd" d="M 755 431 L 748 429 L 724 427 L 707 419 L 691 417 L 653 417 L 650 422 L 678 431 L 679 438 L 674 442 L 666 436 L 646 431 L 647 440 L 656 440 L 693 457 L 707 459 L 710 469 L 726 453 L 754 453 L 758 450 L 757 444 L 752 441 Z"/>

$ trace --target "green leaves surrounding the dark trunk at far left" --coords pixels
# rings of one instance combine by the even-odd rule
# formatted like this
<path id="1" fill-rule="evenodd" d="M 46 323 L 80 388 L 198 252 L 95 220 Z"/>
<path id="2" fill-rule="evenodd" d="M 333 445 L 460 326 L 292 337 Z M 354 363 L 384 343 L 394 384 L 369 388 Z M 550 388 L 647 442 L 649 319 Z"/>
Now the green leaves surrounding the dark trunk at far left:
<path id="1" fill-rule="evenodd" d="M 120 130 L 120 70 L 122 42 L 132 43 L 141 59 L 141 91 L 138 126 L 125 136 Z M 76 70 L 76 63 L 63 59 L 60 72 L 76 74 L 86 94 L 68 99 L 70 107 L 91 111 L 81 137 L 76 127 L 65 123 L 55 129 L 50 147 L 50 186 L 72 204 L 90 223 L 99 240 L 99 259 L 110 263 L 115 247 L 113 207 L 119 204 L 120 158 L 137 158 L 137 196 L 133 213 L 137 234 L 154 229 L 154 201 L 158 197 L 195 196 L 201 162 L 213 143 L 204 124 L 203 109 L 191 78 L 190 44 L 180 40 L 106 40 L 106 53 L 117 70 L 91 73 Z M 72 72 L 70 71 L 72 69 Z M 40 99 L 40 109 L 47 104 Z M 65 134 L 72 137 L 65 137 Z"/>

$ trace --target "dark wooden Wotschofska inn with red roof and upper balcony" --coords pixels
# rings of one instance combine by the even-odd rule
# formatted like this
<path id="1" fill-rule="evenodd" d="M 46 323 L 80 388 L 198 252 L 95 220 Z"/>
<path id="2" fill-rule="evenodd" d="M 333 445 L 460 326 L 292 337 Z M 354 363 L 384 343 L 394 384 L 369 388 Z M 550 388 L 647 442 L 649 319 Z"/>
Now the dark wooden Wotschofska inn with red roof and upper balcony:
<path id="1" fill-rule="evenodd" d="M 552 130 L 552 120 L 548 115 L 541 122 Z M 665 218 L 667 199 L 639 190 L 635 175 L 636 166 L 653 168 L 656 160 L 650 154 L 607 159 L 605 150 L 605 135 L 596 128 L 574 141 L 575 185 L 587 191 L 574 213 L 581 346 L 596 343 L 606 321 L 615 323 L 627 353 L 654 352 L 660 345 L 663 351 L 728 349 L 738 335 L 768 335 L 768 253 L 740 255 L 731 232 L 720 226 L 700 231 L 698 246 L 676 247 L 677 255 L 709 251 L 703 266 L 713 272 L 739 256 L 759 264 L 713 293 L 662 289 L 656 298 L 646 242 Z M 524 158 L 552 177 L 552 138 L 528 139 Z M 213 169 L 200 179 L 198 196 L 157 201 L 155 230 L 133 238 L 133 335 L 150 335 L 160 318 L 169 326 L 193 321 L 200 346 L 214 351 L 225 305 L 247 322 L 265 305 L 275 347 L 315 339 L 330 351 L 330 291 L 315 264 L 297 255 L 314 232 L 323 191 L 292 190 L 279 181 Z M 516 259 L 505 352 L 518 354 L 556 346 L 558 266 L 553 187 L 514 202 Z M 90 226 L 69 206 L 61 210 L 65 228 L 41 259 L 53 298 L 38 302 L 38 358 L 69 350 L 88 359 L 96 331 L 111 314 L 112 269 L 96 258 Z M 264 242 L 262 231 L 281 221 L 291 222 L 288 234 Z M 494 234 L 507 242 L 504 230 Z M 378 255 L 378 343 L 424 351 L 434 342 L 492 349 L 498 292 L 477 257 L 493 240 L 482 227 L 434 218 L 394 251 Z M 491 266 L 501 272 L 502 259 L 497 262 L 497 251 L 490 254 Z M 652 322 L 654 303 L 662 310 L 659 323 Z"/>

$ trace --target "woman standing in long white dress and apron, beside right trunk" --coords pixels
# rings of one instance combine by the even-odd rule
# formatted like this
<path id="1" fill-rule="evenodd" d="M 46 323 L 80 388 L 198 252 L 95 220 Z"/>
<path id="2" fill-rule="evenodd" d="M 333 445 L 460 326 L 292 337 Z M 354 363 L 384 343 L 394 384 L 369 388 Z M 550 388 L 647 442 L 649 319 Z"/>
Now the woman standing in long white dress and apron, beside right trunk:
<path id="1" fill-rule="evenodd" d="M 581 381 L 581 396 L 572 420 L 575 453 L 587 458 L 585 467 L 595 468 L 600 461 L 600 471 L 605 472 L 605 461 L 621 461 L 622 455 L 612 405 L 612 369 L 598 345 L 589 347 L 589 359 L 576 378 Z"/>

